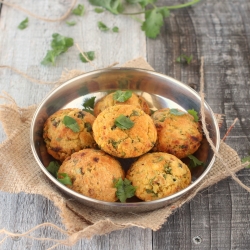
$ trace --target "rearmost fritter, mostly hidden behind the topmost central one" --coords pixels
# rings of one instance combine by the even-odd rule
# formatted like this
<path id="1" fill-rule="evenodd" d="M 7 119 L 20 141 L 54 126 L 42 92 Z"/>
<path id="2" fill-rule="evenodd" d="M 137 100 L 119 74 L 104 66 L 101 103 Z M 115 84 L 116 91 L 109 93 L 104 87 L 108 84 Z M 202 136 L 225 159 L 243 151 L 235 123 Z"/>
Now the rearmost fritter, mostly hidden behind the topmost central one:
<path id="1" fill-rule="evenodd" d="M 114 92 L 115 93 L 115 92 Z M 134 105 L 142 109 L 146 114 L 150 114 L 148 103 L 142 96 L 132 93 L 132 96 L 125 102 L 114 100 L 114 93 L 108 94 L 100 99 L 94 106 L 94 115 L 98 116 L 104 109 L 114 105 Z"/>

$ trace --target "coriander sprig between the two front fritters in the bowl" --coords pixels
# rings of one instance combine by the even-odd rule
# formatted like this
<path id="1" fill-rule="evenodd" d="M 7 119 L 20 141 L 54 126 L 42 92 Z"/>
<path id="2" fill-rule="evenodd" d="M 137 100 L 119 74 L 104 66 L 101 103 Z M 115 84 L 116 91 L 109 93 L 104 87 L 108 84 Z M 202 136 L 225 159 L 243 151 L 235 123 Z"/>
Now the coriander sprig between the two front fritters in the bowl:
<path id="1" fill-rule="evenodd" d="M 124 180 L 122 180 L 122 178 L 115 180 L 115 187 L 117 189 L 115 194 L 120 202 L 126 202 L 127 198 L 131 198 L 135 195 L 136 187 L 126 178 Z"/>

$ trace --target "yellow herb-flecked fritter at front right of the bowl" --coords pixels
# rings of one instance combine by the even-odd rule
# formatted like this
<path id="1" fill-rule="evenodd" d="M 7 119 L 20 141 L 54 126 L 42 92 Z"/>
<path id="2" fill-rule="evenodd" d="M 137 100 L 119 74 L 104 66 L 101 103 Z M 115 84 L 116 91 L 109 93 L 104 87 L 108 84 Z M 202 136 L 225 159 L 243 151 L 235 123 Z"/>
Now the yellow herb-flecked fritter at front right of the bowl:
<path id="1" fill-rule="evenodd" d="M 176 156 L 147 153 L 134 162 L 126 178 L 137 187 L 135 195 L 144 201 L 161 199 L 174 194 L 191 183 L 191 173 Z"/>

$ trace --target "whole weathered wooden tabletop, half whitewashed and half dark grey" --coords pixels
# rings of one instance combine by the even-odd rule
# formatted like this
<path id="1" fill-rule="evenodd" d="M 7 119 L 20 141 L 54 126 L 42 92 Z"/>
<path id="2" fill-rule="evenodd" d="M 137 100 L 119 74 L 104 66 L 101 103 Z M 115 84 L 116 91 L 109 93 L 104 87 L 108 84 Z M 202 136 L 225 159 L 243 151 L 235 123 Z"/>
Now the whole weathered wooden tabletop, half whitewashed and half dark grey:
<path id="1" fill-rule="evenodd" d="M 5 1 L 20 5 L 40 16 L 56 18 L 64 14 L 67 0 Z M 161 0 L 157 5 L 183 3 Z M 123 64 L 136 57 L 145 58 L 158 72 L 172 76 L 199 90 L 200 58 L 205 59 L 206 100 L 214 112 L 224 114 L 221 136 L 237 117 L 239 120 L 226 139 L 240 157 L 250 152 L 250 2 L 249 0 L 203 0 L 194 7 L 172 11 L 165 19 L 161 34 L 146 39 L 140 24 L 128 16 L 108 12 L 94 13 L 87 1 L 83 17 L 70 16 L 77 25 L 65 21 L 46 22 L 29 17 L 29 27 L 17 29 L 27 17 L 6 5 L 0 7 L 0 65 L 9 65 L 43 81 L 57 80 L 63 69 L 90 71 L 114 62 Z M 118 34 L 103 33 L 97 21 L 118 26 Z M 58 58 L 56 67 L 45 67 L 40 61 L 49 49 L 51 35 L 73 37 L 83 51 L 94 50 L 94 66 L 78 59 L 76 47 Z M 176 63 L 180 54 L 193 55 L 190 65 Z M 8 92 L 21 107 L 38 104 L 52 85 L 32 83 L 10 69 L 0 69 L 0 89 Z M 0 141 L 5 134 L 0 127 Z M 238 177 L 250 186 L 250 171 Z M 130 228 L 109 235 L 81 240 L 70 249 L 250 249 L 250 196 L 228 178 L 200 192 L 170 216 L 156 232 Z M 62 226 L 56 208 L 42 196 L 0 195 L 0 228 L 25 232 L 42 222 Z M 50 228 L 35 232 L 37 237 L 62 237 Z M 1 249 L 47 249 L 52 244 L 29 238 L 8 238 Z M 56 249 L 69 249 L 59 246 Z"/>

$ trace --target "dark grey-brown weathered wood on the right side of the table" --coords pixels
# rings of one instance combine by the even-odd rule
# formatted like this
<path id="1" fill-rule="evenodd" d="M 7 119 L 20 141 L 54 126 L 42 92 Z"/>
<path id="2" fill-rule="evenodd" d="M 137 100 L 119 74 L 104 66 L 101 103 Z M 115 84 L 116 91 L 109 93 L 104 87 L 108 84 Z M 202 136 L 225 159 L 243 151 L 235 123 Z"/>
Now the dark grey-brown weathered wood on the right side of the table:
<path id="1" fill-rule="evenodd" d="M 175 11 L 165 21 L 161 36 L 147 41 L 148 61 L 156 71 L 194 84 L 197 90 L 198 59 L 204 56 L 206 100 L 214 112 L 225 114 L 222 136 L 239 118 L 226 142 L 240 156 L 250 152 L 249 13 L 248 1 L 205 1 Z M 194 56 L 191 65 L 175 62 L 182 53 Z M 238 176 L 249 185 L 249 170 Z M 154 232 L 153 248 L 248 249 L 249 205 L 249 194 L 237 183 L 230 178 L 221 181 L 198 194 Z M 201 237 L 200 244 L 195 244 L 195 236 Z"/>

